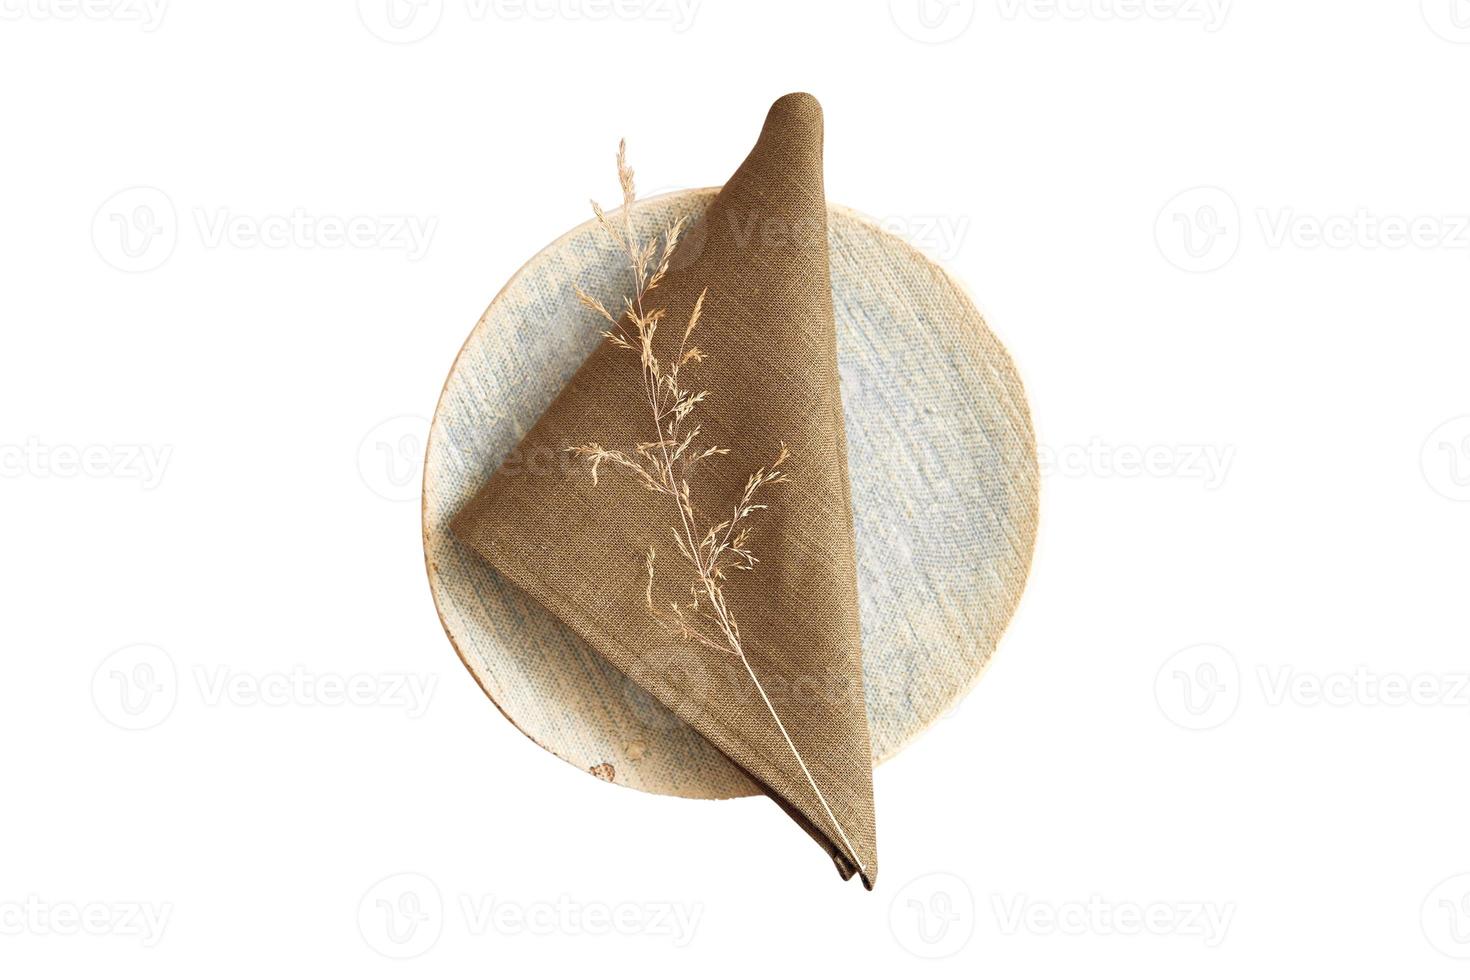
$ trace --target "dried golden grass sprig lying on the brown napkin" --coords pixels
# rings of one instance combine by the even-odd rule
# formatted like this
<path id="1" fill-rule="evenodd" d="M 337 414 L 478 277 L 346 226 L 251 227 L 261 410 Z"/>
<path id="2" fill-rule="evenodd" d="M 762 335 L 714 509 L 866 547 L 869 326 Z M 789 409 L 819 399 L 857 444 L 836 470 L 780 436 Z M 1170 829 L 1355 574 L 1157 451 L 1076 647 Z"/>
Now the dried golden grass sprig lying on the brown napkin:
<path id="1" fill-rule="evenodd" d="M 747 478 L 745 491 L 731 508 L 729 516 L 706 525 L 700 510 L 694 504 L 698 464 L 728 455 L 729 450 L 713 444 L 701 445 L 698 425 L 691 423 L 685 429 L 685 423 L 689 422 L 695 410 L 709 398 L 710 392 L 694 385 L 686 385 L 684 369 L 706 360 L 704 351 L 698 347 L 691 347 L 689 339 L 700 326 L 700 316 L 704 311 L 704 300 L 709 295 L 709 289 L 700 291 L 698 298 L 695 298 L 694 309 L 684 325 L 684 334 L 673 356 L 660 359 L 654 338 L 667 316 L 667 310 L 651 304 L 650 294 L 659 288 L 669 272 L 670 257 L 684 231 L 684 219 L 681 217 L 664 231 L 662 247 L 657 235 L 648 241 L 639 241 L 632 226 L 632 206 L 637 192 L 634 170 L 628 166 L 626 141 L 617 144 L 617 184 L 622 188 L 623 198 L 620 220 L 614 222 L 610 219 L 597 201 L 592 201 L 592 213 L 609 238 L 628 257 L 628 264 L 634 275 L 632 295 L 623 297 L 622 311 L 617 316 L 600 300 L 588 295 L 581 287 L 576 287 L 576 298 L 584 307 L 597 313 L 607 323 L 601 331 L 607 344 L 638 357 L 642 373 L 644 400 L 650 413 L 650 426 L 654 438 L 648 442 L 637 444 L 631 451 L 609 450 L 597 442 L 587 442 L 584 445 L 567 447 L 567 453 L 589 464 L 594 485 L 597 483 L 598 467 L 607 463 L 616 470 L 628 472 L 641 488 L 670 498 L 673 510 L 678 514 L 678 525 L 670 525 L 669 532 L 675 547 L 689 567 L 689 599 L 685 602 L 670 601 L 667 602 L 667 610 L 663 608 L 662 602 L 656 601 L 654 558 L 657 552 L 650 545 L 644 555 L 644 566 L 647 569 L 644 602 L 648 607 L 650 616 L 675 635 L 741 663 L 756 691 L 760 693 L 760 699 L 766 704 L 766 710 L 770 711 L 770 717 L 781 730 L 786 746 L 795 757 L 797 764 L 801 765 L 801 771 L 806 774 L 813 792 L 816 792 L 817 801 L 820 801 L 832 826 L 841 835 L 842 843 L 853 854 L 858 870 L 866 874 L 867 870 L 863 867 L 861 858 L 857 857 L 857 848 L 847 839 L 842 823 L 828 805 L 822 788 L 813 779 L 806 760 L 801 758 L 801 752 L 797 751 L 795 742 L 791 741 L 786 726 L 781 721 L 776 707 L 766 695 L 766 688 L 760 683 L 760 677 L 756 676 L 750 660 L 745 657 L 739 623 L 726 604 L 725 591 L 720 585 L 725 582 L 726 573 L 750 572 L 756 567 L 759 558 L 751 550 L 753 527 L 750 520 L 769 507 L 769 504 L 763 502 L 763 494 L 769 488 L 789 482 L 782 466 L 791 458 L 791 453 L 786 450 L 785 442 L 782 442 L 770 466 L 761 467 Z"/>

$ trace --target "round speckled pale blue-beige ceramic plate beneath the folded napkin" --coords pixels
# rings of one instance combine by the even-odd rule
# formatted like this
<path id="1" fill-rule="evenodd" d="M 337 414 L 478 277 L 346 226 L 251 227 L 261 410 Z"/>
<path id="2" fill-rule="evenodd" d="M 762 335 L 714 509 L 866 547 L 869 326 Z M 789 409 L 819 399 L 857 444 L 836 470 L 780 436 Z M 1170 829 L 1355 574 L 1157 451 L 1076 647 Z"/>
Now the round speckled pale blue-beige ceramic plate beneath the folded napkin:
<path id="1" fill-rule="evenodd" d="M 644 237 L 717 188 L 634 206 Z M 873 761 L 954 708 L 1020 598 L 1036 532 L 1036 450 L 1020 379 L 964 291 L 922 253 L 828 209 Z M 698 248 L 697 234 L 681 251 Z M 678 253 L 676 253 L 678 260 Z M 460 660 L 516 727 L 594 776 L 694 798 L 756 786 L 448 532 L 600 342 L 573 284 L 631 291 L 595 222 L 528 262 L 450 369 L 423 472 L 423 550 Z M 520 460 L 522 464 L 538 461 Z M 547 466 L 557 460 L 542 460 Z"/>

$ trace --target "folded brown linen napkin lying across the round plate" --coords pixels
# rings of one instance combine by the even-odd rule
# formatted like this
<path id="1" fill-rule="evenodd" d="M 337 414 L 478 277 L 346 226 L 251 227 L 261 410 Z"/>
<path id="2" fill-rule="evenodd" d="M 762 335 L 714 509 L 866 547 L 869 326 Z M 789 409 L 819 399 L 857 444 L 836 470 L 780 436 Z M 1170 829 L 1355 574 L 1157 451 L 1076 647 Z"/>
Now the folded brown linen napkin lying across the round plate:
<path id="1" fill-rule="evenodd" d="M 703 526 L 719 519 L 706 514 L 731 511 L 747 476 L 769 466 L 782 444 L 791 451 L 782 464 L 791 482 L 763 491 L 769 510 L 751 519 L 759 563 L 723 583 L 747 663 L 681 638 L 648 611 L 650 545 L 654 601 L 689 599 L 688 563 L 670 538 L 679 522 L 673 500 L 614 466 L 604 464 L 594 485 L 587 466 L 566 454 L 594 441 L 631 450 L 656 438 L 629 351 L 600 345 L 510 457 L 556 454 L 567 466 L 501 467 L 456 516 L 453 532 L 748 771 L 832 855 L 844 879 L 860 873 L 872 889 L 872 752 L 828 272 L 822 107 L 811 96 L 795 93 L 770 107 L 756 147 L 648 294 L 667 309 L 657 335 L 657 344 L 670 345 L 667 356 L 701 291 L 706 361 L 686 372 L 697 389 L 709 389 L 698 407 L 701 442 L 731 450 L 700 464 L 692 505 Z"/>

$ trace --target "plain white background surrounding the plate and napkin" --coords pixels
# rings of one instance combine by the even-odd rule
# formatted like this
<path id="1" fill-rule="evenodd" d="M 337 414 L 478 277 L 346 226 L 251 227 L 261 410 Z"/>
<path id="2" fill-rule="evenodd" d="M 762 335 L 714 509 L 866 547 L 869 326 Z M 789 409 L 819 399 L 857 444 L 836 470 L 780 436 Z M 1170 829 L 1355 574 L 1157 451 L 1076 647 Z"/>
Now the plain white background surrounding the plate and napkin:
<path id="1" fill-rule="evenodd" d="M 1464 0 L 156 3 L 0 0 L 4 976 L 1463 976 Z M 520 736 L 419 544 L 617 138 L 719 184 L 798 88 L 1048 473 L 872 895 Z"/>

